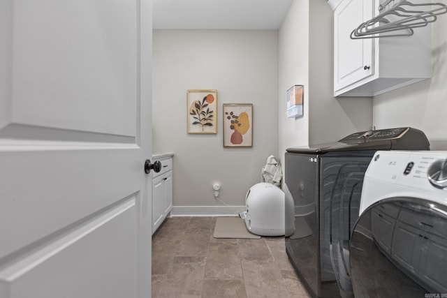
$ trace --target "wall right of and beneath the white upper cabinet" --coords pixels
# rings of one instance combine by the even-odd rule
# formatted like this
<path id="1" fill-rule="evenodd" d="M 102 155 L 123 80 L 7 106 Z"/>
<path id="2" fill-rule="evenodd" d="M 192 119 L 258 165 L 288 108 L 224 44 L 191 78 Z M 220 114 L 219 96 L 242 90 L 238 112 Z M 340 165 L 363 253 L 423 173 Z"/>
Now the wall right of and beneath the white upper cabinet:
<path id="1" fill-rule="evenodd" d="M 431 149 L 447 150 L 446 115 L 447 15 L 440 15 L 432 31 L 432 79 L 374 97 L 373 124 L 378 129 L 418 128 L 427 135 Z"/>

